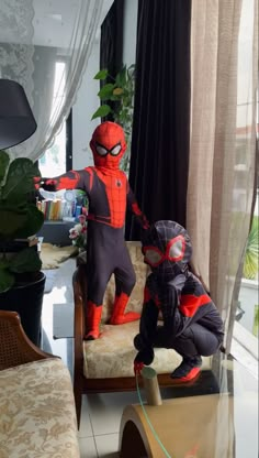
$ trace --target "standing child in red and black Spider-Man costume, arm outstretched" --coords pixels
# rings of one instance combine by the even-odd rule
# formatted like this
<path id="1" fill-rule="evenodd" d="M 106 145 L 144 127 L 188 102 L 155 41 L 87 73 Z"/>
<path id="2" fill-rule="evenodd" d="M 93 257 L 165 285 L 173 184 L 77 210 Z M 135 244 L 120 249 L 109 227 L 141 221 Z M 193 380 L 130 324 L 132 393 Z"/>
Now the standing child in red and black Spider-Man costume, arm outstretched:
<path id="1" fill-rule="evenodd" d="M 123 129 L 114 122 L 103 122 L 94 130 L 90 146 L 94 166 L 70 171 L 58 177 L 44 178 L 47 190 L 82 189 L 89 200 L 87 266 L 88 301 L 86 305 L 86 340 L 97 339 L 106 284 L 114 273 L 115 301 L 110 319 L 121 325 L 139 318 L 133 312 L 124 314 L 136 275 L 124 240 L 126 206 L 148 228 L 138 208 L 127 177 L 119 168 L 126 150 Z"/>

